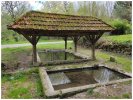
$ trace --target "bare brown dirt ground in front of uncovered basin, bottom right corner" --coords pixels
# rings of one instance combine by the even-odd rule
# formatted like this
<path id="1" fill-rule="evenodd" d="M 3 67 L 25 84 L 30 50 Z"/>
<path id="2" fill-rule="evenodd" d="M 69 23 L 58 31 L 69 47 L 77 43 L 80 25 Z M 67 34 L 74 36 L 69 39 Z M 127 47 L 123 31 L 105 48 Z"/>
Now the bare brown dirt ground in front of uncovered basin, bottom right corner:
<path id="1" fill-rule="evenodd" d="M 117 83 L 97 87 L 87 92 L 78 93 L 66 99 L 124 99 L 132 98 L 131 82 Z"/>

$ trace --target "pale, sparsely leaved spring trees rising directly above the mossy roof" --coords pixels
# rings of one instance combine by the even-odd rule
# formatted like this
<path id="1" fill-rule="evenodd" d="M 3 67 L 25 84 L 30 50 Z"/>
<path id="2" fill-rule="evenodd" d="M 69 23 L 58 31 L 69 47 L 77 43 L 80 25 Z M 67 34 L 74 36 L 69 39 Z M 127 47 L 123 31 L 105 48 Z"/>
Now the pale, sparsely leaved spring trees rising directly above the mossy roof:
<path id="1" fill-rule="evenodd" d="M 39 1 L 40 2 L 40 1 Z M 112 16 L 113 2 L 106 1 L 46 1 L 41 11 L 99 17 L 105 21 Z"/>

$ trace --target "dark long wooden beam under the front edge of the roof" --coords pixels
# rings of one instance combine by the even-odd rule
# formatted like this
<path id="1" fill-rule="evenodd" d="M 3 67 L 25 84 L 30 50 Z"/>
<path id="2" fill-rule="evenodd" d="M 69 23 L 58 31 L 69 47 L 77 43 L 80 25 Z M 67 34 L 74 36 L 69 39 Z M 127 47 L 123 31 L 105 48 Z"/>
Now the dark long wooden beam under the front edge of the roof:
<path id="1" fill-rule="evenodd" d="M 94 34 L 99 34 L 108 32 L 106 30 L 24 30 L 24 29 L 16 29 L 14 30 L 20 34 L 26 34 L 26 35 L 37 35 L 37 36 L 53 36 L 53 37 L 72 37 L 72 36 L 86 36 L 86 35 L 94 35 Z"/>

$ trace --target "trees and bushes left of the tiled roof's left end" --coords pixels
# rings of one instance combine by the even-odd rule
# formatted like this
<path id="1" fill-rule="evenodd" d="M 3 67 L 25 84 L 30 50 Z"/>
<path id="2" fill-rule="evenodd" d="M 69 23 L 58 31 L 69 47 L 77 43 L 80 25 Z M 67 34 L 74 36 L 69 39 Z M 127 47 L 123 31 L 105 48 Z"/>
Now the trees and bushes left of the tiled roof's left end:
<path id="1" fill-rule="evenodd" d="M 2 1 L 2 41 L 18 41 L 23 37 L 18 36 L 17 33 L 8 30 L 7 25 L 12 21 L 15 21 L 23 13 L 31 9 L 30 5 L 26 1 Z"/>

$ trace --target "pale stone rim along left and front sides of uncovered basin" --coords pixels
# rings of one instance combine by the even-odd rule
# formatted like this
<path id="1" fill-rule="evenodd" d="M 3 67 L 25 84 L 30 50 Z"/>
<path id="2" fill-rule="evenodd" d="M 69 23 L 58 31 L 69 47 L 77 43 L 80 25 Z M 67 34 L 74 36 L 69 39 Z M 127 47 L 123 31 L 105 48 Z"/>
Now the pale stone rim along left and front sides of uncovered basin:
<path id="1" fill-rule="evenodd" d="M 103 86 L 103 85 L 111 85 L 114 83 L 121 83 L 121 82 L 132 80 L 132 78 L 127 78 L 127 79 L 110 81 L 106 84 L 96 83 L 96 84 L 90 84 L 90 85 L 85 85 L 85 86 L 78 86 L 78 87 L 72 87 L 72 88 L 67 88 L 67 89 L 54 90 L 52 83 L 50 82 L 49 76 L 46 72 L 45 67 L 39 67 L 39 73 L 40 73 L 40 77 L 41 77 L 41 81 L 42 81 L 42 85 L 43 85 L 44 94 L 49 98 L 63 96 L 63 95 L 69 95 L 72 93 L 78 93 L 81 91 L 85 91 L 89 88 L 95 88 L 95 87 L 99 87 L 99 86 Z M 125 74 L 125 73 L 122 73 L 122 74 Z"/>

